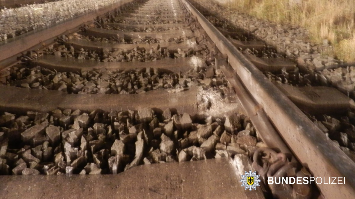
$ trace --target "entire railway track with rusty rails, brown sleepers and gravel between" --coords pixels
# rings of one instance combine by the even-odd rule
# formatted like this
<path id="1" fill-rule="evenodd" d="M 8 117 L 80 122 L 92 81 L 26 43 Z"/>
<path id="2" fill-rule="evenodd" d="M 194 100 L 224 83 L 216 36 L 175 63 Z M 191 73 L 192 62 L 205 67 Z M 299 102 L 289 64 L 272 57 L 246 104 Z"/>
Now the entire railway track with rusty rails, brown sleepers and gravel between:
<path id="1" fill-rule="evenodd" d="M 296 64 L 250 34 L 214 27 L 187 1 L 117 6 L 0 46 L 5 198 L 351 197 L 353 140 L 328 121 L 354 107 L 349 97 L 290 86 L 308 83 Z M 253 192 L 240 186 L 249 170 L 262 179 Z M 19 176 L 31 174 L 47 176 Z M 285 176 L 346 178 L 331 188 L 266 183 Z"/>

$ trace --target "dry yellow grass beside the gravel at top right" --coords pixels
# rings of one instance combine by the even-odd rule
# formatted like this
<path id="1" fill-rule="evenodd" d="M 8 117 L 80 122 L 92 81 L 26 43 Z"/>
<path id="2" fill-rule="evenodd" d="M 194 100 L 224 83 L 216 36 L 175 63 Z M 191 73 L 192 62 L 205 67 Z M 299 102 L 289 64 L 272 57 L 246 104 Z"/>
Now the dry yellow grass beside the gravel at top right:
<path id="1" fill-rule="evenodd" d="M 257 18 L 305 27 L 310 39 L 334 46 L 334 56 L 355 60 L 355 0 L 229 0 L 229 7 Z"/>

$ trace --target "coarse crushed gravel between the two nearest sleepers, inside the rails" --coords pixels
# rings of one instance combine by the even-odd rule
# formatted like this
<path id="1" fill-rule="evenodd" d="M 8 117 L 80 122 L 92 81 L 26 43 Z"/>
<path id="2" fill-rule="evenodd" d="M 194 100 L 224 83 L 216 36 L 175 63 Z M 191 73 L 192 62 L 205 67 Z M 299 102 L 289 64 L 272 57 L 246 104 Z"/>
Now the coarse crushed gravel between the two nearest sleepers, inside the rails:
<path id="1" fill-rule="evenodd" d="M 5 175 L 117 174 L 141 164 L 252 157 L 265 146 L 244 115 L 194 119 L 169 109 L 4 113 L 0 132 Z"/>

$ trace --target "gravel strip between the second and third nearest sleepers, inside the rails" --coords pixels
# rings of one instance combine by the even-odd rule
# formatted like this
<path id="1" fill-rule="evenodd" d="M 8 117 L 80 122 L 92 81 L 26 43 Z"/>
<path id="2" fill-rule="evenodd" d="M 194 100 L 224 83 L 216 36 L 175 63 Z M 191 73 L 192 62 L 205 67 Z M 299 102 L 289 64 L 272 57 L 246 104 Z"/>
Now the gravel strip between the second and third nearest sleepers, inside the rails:
<path id="1" fill-rule="evenodd" d="M 12 67 L 1 83 L 32 89 L 59 90 L 73 94 L 137 94 L 156 89 L 182 89 L 191 86 L 225 87 L 224 76 L 212 67 L 191 69 L 186 74 L 146 70 L 92 70 L 81 74 L 56 72 L 42 67 Z M 211 72 L 212 71 L 212 72 Z M 212 73 L 212 74 L 211 74 Z"/>

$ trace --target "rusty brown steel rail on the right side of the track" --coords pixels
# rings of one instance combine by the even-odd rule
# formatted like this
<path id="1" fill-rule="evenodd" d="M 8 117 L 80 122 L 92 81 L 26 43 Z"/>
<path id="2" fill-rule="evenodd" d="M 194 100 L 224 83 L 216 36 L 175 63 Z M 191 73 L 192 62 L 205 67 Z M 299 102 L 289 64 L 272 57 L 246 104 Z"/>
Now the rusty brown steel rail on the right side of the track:
<path id="1" fill-rule="evenodd" d="M 260 104 L 284 141 L 313 176 L 346 176 L 337 186 L 317 185 L 326 198 L 351 198 L 355 194 L 355 163 L 335 147 L 281 91 L 275 87 L 234 45 L 186 0 L 187 9 L 197 17 L 207 35 L 239 75 L 246 89 Z M 258 114 L 258 113 L 257 113 Z"/>

